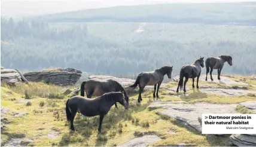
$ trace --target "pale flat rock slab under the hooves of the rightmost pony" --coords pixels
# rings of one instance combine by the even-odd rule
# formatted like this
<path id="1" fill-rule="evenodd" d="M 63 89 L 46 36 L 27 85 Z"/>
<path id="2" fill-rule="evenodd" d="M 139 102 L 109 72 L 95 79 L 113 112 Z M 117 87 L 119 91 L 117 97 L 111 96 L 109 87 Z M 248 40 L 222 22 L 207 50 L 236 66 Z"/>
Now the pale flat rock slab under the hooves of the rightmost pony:
<path id="1" fill-rule="evenodd" d="M 205 78 L 206 78 L 206 75 L 200 75 L 200 80 L 201 81 L 205 81 Z M 237 82 L 237 81 L 234 81 L 233 79 L 230 79 L 226 76 L 220 76 L 220 80 L 218 80 L 218 75 L 212 75 L 212 78 L 214 79 L 214 81 L 211 80 L 211 76 L 210 74 L 208 74 L 208 77 L 207 77 L 207 81 L 208 82 L 215 82 L 215 83 L 219 83 L 219 84 L 226 84 L 226 85 L 248 85 L 247 83 L 245 82 Z"/>

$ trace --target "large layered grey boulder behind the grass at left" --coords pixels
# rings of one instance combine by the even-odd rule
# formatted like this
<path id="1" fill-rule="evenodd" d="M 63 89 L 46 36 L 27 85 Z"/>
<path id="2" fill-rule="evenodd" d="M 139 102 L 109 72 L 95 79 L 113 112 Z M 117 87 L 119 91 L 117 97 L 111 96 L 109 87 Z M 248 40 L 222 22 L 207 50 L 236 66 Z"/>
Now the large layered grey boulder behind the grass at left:
<path id="1" fill-rule="evenodd" d="M 81 77 L 82 72 L 78 69 L 60 69 L 59 71 L 28 72 L 25 76 L 28 81 L 41 82 L 56 85 L 74 85 Z"/>

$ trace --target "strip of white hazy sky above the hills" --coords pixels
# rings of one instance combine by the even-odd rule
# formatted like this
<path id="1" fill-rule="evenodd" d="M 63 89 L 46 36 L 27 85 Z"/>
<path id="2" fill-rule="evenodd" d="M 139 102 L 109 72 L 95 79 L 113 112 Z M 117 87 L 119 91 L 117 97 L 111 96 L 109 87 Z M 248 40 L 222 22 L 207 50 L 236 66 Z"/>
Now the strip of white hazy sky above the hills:
<path id="1" fill-rule="evenodd" d="M 1 0 L 1 16 L 24 17 L 88 8 L 173 2 L 245 2 L 256 0 Z"/>

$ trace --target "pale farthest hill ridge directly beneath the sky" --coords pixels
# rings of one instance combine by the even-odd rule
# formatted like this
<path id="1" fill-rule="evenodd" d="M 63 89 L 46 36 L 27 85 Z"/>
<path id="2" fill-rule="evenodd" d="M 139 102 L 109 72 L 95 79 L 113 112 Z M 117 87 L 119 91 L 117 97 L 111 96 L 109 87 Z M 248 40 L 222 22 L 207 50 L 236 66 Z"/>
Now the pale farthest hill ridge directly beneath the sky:
<path id="1" fill-rule="evenodd" d="M 49 14 L 35 19 L 48 22 L 204 23 L 255 26 L 255 4 L 256 2 L 136 5 Z"/>

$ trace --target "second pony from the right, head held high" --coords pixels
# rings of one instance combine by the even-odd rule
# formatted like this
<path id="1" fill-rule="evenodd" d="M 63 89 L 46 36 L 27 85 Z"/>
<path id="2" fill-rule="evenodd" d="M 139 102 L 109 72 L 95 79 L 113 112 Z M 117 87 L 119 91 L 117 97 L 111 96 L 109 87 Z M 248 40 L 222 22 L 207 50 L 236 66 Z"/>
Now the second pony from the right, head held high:
<path id="1" fill-rule="evenodd" d="M 183 65 L 181 67 L 181 71 L 179 72 L 179 83 L 178 83 L 178 87 L 176 92 L 179 92 L 179 88 L 180 90 L 183 87 L 183 78 L 185 77 L 185 81 L 184 81 L 184 93 L 186 92 L 186 84 L 188 81 L 188 78 L 192 78 L 193 79 L 193 84 L 192 87 L 194 88 L 194 78 L 197 78 L 196 81 L 196 88 L 199 88 L 198 82 L 199 82 L 199 77 L 201 75 L 201 67 L 203 68 L 205 65 L 203 64 L 204 57 L 200 57 L 199 59 L 196 59 L 194 61 L 194 63 L 192 63 L 191 65 Z"/>

